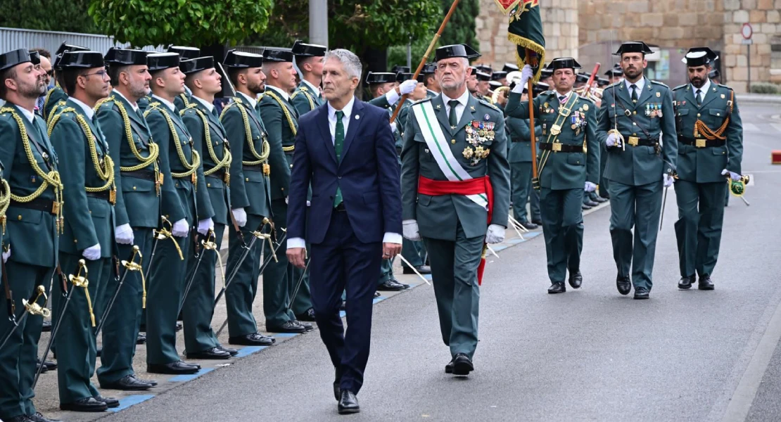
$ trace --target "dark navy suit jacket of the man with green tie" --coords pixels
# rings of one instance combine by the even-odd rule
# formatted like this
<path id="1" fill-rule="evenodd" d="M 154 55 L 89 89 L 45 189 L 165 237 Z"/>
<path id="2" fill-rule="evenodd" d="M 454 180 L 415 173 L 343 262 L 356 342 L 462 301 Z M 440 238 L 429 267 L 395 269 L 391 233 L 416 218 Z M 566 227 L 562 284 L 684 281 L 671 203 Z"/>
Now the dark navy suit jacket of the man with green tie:
<path id="1" fill-rule="evenodd" d="M 327 104 L 298 121 L 288 193 L 289 239 L 323 243 L 337 186 L 359 241 L 381 242 L 386 232 L 401 233 L 400 176 L 388 113 L 355 98 L 348 118 L 341 163 L 331 140 Z M 310 183 L 312 206 L 307 215 Z"/>

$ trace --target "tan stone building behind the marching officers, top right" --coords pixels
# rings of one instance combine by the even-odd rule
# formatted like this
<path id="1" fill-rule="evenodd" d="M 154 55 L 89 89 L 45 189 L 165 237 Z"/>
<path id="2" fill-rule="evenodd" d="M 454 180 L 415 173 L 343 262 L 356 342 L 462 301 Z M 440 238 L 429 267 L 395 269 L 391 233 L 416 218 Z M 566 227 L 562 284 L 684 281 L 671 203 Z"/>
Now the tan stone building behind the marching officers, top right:
<path id="1" fill-rule="evenodd" d="M 572 56 L 590 72 L 615 62 L 621 41 L 642 40 L 653 46 L 648 75 L 670 85 L 686 82 L 680 59 L 686 49 L 707 45 L 719 51 L 722 80 L 737 92 L 751 82 L 781 83 L 781 0 L 540 0 L 547 56 Z M 743 44 L 740 29 L 751 23 L 752 44 Z M 480 0 L 476 20 L 483 61 L 501 66 L 514 59 L 507 40 L 507 18 L 494 0 Z M 750 50 L 750 54 L 749 54 Z M 749 55 L 751 63 L 749 67 Z"/>

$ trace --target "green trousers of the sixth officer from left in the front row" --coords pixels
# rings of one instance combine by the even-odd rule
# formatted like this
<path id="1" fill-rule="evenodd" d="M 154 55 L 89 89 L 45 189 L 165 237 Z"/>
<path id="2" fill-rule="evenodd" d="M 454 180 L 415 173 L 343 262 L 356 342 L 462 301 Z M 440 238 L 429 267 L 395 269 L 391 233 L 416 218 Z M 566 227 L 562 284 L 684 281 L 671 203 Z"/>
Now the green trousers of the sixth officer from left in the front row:
<path id="1" fill-rule="evenodd" d="M 244 242 L 247 246 L 255 239 L 252 232 L 258 229 L 263 217 L 260 215 L 247 215 L 247 224 L 241 228 L 244 236 Z M 269 228 L 263 228 L 264 232 L 269 232 Z M 244 261 L 236 266 L 242 255 L 247 251 L 241 244 L 239 236 L 235 230 L 228 232 L 228 264 L 225 274 L 230 277 L 234 271 L 236 275 L 230 286 L 225 291 L 225 306 L 228 311 L 228 333 L 230 337 L 238 337 L 258 332 L 258 324 L 255 323 L 255 316 L 252 315 L 252 303 L 258 294 L 258 278 L 260 276 L 261 255 L 263 253 L 263 244 L 267 240 L 257 239 L 252 245 L 251 250 L 246 254 Z M 280 248 L 281 250 L 281 248 Z"/>

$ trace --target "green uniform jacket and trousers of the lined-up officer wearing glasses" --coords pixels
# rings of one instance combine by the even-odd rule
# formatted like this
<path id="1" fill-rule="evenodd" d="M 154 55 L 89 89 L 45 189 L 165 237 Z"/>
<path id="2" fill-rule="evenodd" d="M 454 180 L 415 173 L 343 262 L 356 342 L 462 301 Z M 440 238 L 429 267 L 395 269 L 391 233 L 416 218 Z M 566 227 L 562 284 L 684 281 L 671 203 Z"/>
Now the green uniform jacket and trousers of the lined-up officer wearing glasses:
<path id="1" fill-rule="evenodd" d="M 68 285 L 69 289 L 76 290 L 67 308 L 61 293 L 52 295 L 54 314 L 66 312 L 59 328 L 65 334 L 55 339 L 59 400 L 64 404 L 98 395 L 90 381 L 95 372 L 97 346 L 87 294 L 93 298 L 92 314 L 100 317 L 104 303 L 99 295 L 112 276 L 111 257 L 115 252 L 114 164 L 98 119 L 88 117 L 75 101 L 69 99 L 59 114 L 52 116 L 49 131 L 52 145 L 60 151 L 66 191 L 60 264 L 63 273 L 76 275 L 79 261 L 84 259 L 87 272 L 82 275 L 89 282 L 86 289 Z M 96 261 L 83 258 L 84 250 L 95 244 L 100 245 L 100 258 Z"/>

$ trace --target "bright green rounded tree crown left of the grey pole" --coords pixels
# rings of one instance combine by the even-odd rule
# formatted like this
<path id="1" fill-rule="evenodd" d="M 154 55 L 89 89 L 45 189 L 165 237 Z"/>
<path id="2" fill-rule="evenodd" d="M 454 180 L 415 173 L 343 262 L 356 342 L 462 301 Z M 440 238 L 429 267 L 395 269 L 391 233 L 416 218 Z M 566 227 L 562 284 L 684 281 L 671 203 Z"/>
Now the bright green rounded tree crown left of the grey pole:
<path id="1" fill-rule="evenodd" d="M 273 0 L 91 0 L 99 29 L 134 46 L 236 44 L 266 30 Z"/>

